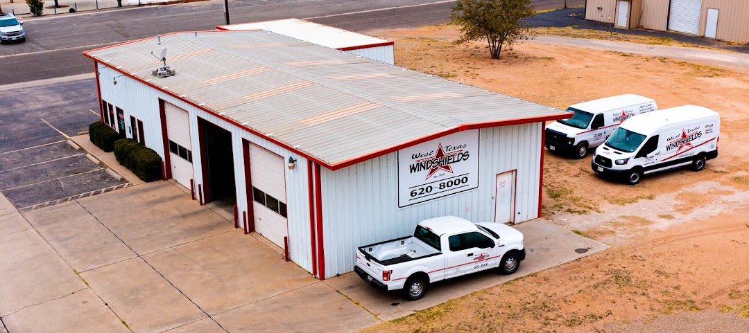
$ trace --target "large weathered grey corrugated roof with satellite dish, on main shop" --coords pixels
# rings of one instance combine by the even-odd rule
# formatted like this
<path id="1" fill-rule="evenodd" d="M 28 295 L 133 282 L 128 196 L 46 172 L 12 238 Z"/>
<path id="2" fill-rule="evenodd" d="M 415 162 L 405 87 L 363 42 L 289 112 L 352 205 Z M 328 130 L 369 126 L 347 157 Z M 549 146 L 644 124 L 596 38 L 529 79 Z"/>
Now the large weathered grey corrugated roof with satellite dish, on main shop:
<path id="1" fill-rule="evenodd" d="M 84 53 L 333 169 L 467 127 L 570 115 L 266 31 L 175 33 L 161 42 Z M 160 79 L 151 52 L 165 48 L 177 75 Z"/>

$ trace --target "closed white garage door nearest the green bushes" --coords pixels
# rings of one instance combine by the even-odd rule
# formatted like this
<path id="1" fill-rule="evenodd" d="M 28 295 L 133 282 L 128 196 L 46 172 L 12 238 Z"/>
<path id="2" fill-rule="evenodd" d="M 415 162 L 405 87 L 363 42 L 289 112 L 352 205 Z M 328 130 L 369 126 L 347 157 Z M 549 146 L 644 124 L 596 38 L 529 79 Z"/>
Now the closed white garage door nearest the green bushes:
<path id="1" fill-rule="evenodd" d="M 192 180 L 192 144 L 189 137 L 187 111 L 164 103 L 166 111 L 166 135 L 169 137 L 169 161 L 172 178 L 189 189 Z"/>

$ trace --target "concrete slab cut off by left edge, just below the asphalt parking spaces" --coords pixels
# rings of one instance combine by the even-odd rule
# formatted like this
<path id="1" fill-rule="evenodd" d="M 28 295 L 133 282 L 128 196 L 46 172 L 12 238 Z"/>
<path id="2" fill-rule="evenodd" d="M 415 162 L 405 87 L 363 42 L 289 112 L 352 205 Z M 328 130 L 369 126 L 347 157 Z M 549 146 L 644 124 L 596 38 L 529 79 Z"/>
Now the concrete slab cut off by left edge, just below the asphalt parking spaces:
<path id="1" fill-rule="evenodd" d="M 0 317 L 84 289 L 70 266 L 18 213 L 2 226 L 21 228 L 0 238 Z"/>

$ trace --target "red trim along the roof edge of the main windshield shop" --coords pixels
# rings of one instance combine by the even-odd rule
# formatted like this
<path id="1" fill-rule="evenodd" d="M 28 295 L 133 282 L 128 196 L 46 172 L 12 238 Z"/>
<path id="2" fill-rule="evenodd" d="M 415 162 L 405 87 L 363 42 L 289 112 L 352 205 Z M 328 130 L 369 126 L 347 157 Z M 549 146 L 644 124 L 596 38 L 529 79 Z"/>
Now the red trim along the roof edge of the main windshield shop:
<path id="1" fill-rule="evenodd" d="M 191 31 L 171 32 L 169 34 L 181 34 L 181 33 L 186 33 L 186 32 L 189 33 Z M 222 32 L 222 31 L 198 31 L 198 32 Z M 169 35 L 169 34 L 163 34 L 162 36 L 166 36 L 166 35 Z M 83 55 L 85 55 L 85 57 L 87 57 L 87 58 L 90 58 L 94 62 L 98 62 L 98 63 L 101 63 L 101 64 L 108 65 L 106 62 L 101 61 L 100 59 L 97 59 L 94 56 L 89 55 L 88 53 L 89 52 L 94 52 L 94 51 L 97 51 L 97 50 L 100 50 L 100 49 L 108 49 L 108 48 L 114 47 L 114 46 L 121 46 L 121 45 L 129 44 L 129 43 L 135 43 L 135 42 L 142 41 L 142 40 L 149 40 L 149 39 L 152 39 L 152 38 L 154 38 L 154 37 L 143 38 L 141 40 L 131 40 L 131 41 L 126 42 L 126 43 L 120 43 L 120 44 L 115 44 L 115 45 L 110 45 L 110 46 L 104 46 L 104 47 L 99 48 L 99 49 L 93 49 L 93 50 L 89 50 L 89 51 L 84 51 Z M 374 159 L 375 157 L 383 156 L 383 155 L 385 155 L 387 153 L 392 153 L 392 152 L 394 152 L 396 150 L 401 150 L 401 149 L 403 149 L 405 147 L 410 147 L 413 144 L 420 144 L 422 142 L 431 141 L 431 140 L 434 140 L 435 138 L 440 138 L 440 137 L 443 137 L 445 135 L 449 135 L 449 134 L 452 134 L 452 133 L 455 133 L 455 132 L 459 132 L 459 131 L 464 131 L 464 130 L 468 130 L 468 129 L 482 129 L 482 128 L 488 128 L 488 127 L 497 127 L 497 126 L 520 125 L 520 124 L 524 124 L 524 123 L 537 123 L 537 122 L 549 121 L 549 120 L 560 120 L 560 119 L 565 119 L 565 118 L 568 118 L 568 117 L 572 116 L 571 113 L 564 112 L 564 113 L 558 113 L 558 114 L 549 114 L 549 115 L 545 115 L 545 116 L 541 116 L 541 117 L 522 117 L 522 118 L 515 118 L 515 119 L 508 119 L 508 120 L 489 121 L 489 122 L 484 122 L 484 123 L 466 123 L 466 124 L 461 124 L 461 125 L 457 125 L 457 126 L 452 126 L 452 127 L 448 128 L 448 129 L 443 129 L 440 132 L 432 133 L 430 135 L 425 135 L 425 136 L 422 136 L 420 138 L 415 138 L 413 140 L 406 141 L 406 142 L 404 142 L 402 144 L 397 144 L 395 146 L 384 148 L 384 149 L 381 149 L 381 150 L 376 150 L 375 152 L 367 153 L 367 154 L 362 155 L 362 156 L 357 156 L 357 157 L 354 157 L 354 158 L 351 158 L 351 159 L 346 159 L 345 161 L 342 161 L 342 162 L 338 162 L 338 163 L 334 163 L 334 164 L 329 164 L 327 162 L 322 161 L 321 159 L 318 159 L 318 158 L 315 158 L 313 156 L 310 156 L 308 153 L 305 153 L 305 152 L 303 152 L 301 150 L 297 150 L 294 147 L 291 147 L 291 145 L 289 145 L 289 144 L 285 144 L 284 142 L 278 141 L 275 138 L 271 138 L 270 136 L 267 136 L 264 133 L 255 131 L 254 129 L 250 129 L 250 128 L 248 128 L 248 127 L 246 127 L 246 126 L 238 123 L 236 120 L 233 120 L 233 119 L 231 119 L 229 117 L 225 117 L 225 116 L 223 116 L 221 114 L 218 114 L 217 112 L 215 112 L 213 110 L 210 110 L 210 109 L 207 109 L 207 108 L 205 108 L 203 106 L 198 106 L 197 103 L 194 103 L 194 102 L 189 101 L 189 100 L 185 100 L 184 98 L 179 97 L 177 94 L 172 93 L 171 91 L 166 91 L 163 88 L 161 88 L 161 87 L 159 87 L 157 85 L 154 85 L 151 82 L 146 82 L 144 79 L 141 79 L 141 78 L 139 78 L 137 76 L 133 76 L 132 74 L 127 73 L 124 70 L 120 70 L 120 69 L 115 68 L 115 67 L 109 67 L 109 68 L 111 68 L 112 70 L 115 70 L 115 71 L 117 71 L 117 72 L 119 72 L 121 74 L 124 74 L 124 76 L 127 76 L 130 79 L 134 79 L 137 82 L 141 82 L 144 85 L 148 85 L 151 88 L 155 88 L 157 91 L 161 91 L 164 94 L 168 94 L 169 96 L 175 97 L 177 100 L 181 100 L 184 103 L 187 103 L 187 104 L 189 104 L 189 105 L 191 105 L 191 106 L 193 106 L 193 107 L 195 107 L 197 109 L 201 109 L 203 111 L 206 111 L 207 113 L 212 114 L 213 116 L 218 117 L 219 119 L 225 120 L 226 122 L 231 123 L 234 126 L 239 127 L 240 129 L 244 129 L 247 132 L 250 132 L 252 134 L 255 134 L 255 135 L 258 135 L 258 136 L 260 136 L 262 138 L 265 138 L 266 140 L 268 140 L 270 142 L 273 142 L 273 144 L 277 144 L 277 145 L 279 145 L 281 147 L 284 147 L 287 150 L 295 152 L 295 153 L 299 154 L 300 156 L 303 156 L 306 159 L 310 159 L 310 160 L 318 163 L 319 165 L 323 165 L 325 168 L 328 168 L 328 169 L 333 170 L 333 171 L 339 170 L 341 168 L 346 168 L 348 166 L 351 166 L 351 165 L 354 165 L 354 164 L 357 164 L 357 163 L 360 163 L 360 162 L 364 162 L 364 161 L 369 160 L 369 159 Z M 97 76 L 97 80 L 98 80 L 98 76 Z"/>

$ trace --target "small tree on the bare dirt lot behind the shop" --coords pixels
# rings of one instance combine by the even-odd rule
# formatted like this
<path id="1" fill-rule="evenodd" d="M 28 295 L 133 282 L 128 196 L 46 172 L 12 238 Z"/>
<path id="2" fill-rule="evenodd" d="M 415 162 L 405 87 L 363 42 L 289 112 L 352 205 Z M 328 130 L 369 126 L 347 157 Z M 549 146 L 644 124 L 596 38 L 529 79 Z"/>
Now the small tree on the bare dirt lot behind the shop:
<path id="1" fill-rule="evenodd" d="M 486 40 L 491 58 L 499 59 L 503 46 L 533 38 L 524 19 L 535 15 L 533 0 L 458 0 L 450 19 L 461 26 L 458 43 Z"/>

